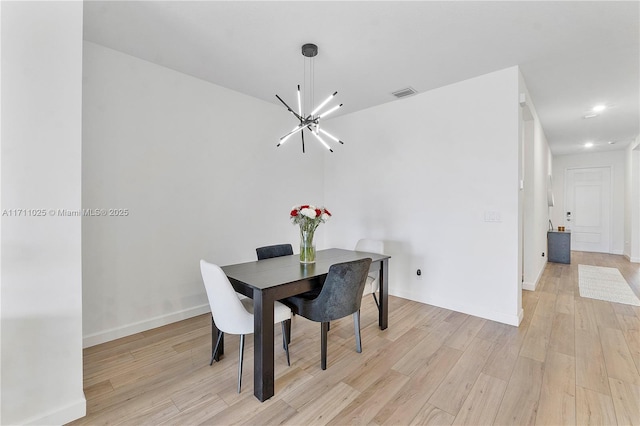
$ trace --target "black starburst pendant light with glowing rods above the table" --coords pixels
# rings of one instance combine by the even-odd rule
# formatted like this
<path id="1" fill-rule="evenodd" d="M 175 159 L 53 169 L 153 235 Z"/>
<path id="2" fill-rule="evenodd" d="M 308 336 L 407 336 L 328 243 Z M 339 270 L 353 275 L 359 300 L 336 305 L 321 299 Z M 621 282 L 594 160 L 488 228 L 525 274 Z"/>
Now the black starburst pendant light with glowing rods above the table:
<path id="1" fill-rule="evenodd" d="M 312 43 L 307 43 L 302 46 L 302 56 L 305 57 L 305 77 L 307 72 L 307 61 L 309 62 L 309 88 L 307 88 L 306 93 L 303 95 L 300 91 L 300 85 L 298 84 L 298 110 L 294 111 L 282 98 L 276 95 L 276 98 L 287 108 L 287 110 L 294 115 L 294 117 L 299 121 L 298 125 L 294 127 L 289 133 L 280 138 L 280 142 L 276 146 L 280 146 L 287 142 L 293 135 L 296 133 L 300 133 L 300 137 L 302 139 L 302 152 L 305 152 L 304 149 L 304 131 L 307 130 L 311 132 L 311 134 L 318 140 L 326 149 L 330 152 L 333 152 L 329 144 L 323 139 L 323 136 L 333 140 L 334 142 L 339 142 L 344 144 L 340 139 L 331 135 L 329 132 L 320 128 L 320 119 L 326 117 L 332 112 L 336 111 L 338 108 L 342 106 L 335 105 L 333 107 L 329 107 L 326 111 L 322 111 L 322 109 L 338 94 L 338 92 L 333 92 L 328 98 L 326 98 L 323 102 L 321 102 L 318 106 L 316 106 L 309 114 L 303 110 L 303 106 L 305 105 L 313 105 L 314 100 L 314 63 L 313 58 L 318 54 L 318 46 Z M 306 78 L 305 78 L 306 80 Z M 305 84 L 307 82 L 305 81 Z M 304 102 L 303 102 L 304 101 Z"/>

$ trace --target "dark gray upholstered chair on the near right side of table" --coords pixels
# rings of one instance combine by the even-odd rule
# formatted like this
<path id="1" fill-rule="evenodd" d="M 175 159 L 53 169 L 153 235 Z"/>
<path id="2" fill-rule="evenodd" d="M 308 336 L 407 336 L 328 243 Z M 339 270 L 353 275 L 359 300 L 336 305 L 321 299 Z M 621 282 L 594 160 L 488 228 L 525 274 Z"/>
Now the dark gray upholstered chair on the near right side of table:
<path id="1" fill-rule="evenodd" d="M 294 313 L 322 323 L 320 366 L 323 370 L 327 369 L 327 332 L 330 321 L 353 315 L 356 351 L 362 352 L 360 303 L 370 266 L 370 258 L 336 263 L 329 268 L 324 285 L 318 293 L 308 292 L 282 300 Z"/>

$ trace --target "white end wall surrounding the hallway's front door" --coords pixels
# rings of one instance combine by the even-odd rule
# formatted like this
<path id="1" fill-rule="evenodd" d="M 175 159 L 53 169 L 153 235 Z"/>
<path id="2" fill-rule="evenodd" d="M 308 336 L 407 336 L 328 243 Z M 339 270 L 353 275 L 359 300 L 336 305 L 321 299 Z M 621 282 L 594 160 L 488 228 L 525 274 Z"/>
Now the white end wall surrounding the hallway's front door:
<path id="1" fill-rule="evenodd" d="M 553 157 L 553 191 L 555 206 L 551 208 L 554 226 L 564 224 L 564 174 L 567 169 L 611 167 L 611 250 L 622 254 L 624 249 L 625 151 L 591 152 Z"/>

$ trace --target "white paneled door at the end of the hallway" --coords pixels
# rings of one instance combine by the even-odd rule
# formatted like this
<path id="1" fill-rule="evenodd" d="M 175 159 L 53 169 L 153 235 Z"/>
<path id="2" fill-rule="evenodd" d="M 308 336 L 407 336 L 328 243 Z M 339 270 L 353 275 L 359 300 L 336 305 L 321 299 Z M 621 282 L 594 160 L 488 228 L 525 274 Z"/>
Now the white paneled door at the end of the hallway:
<path id="1" fill-rule="evenodd" d="M 611 233 L 611 168 L 565 171 L 565 212 L 571 250 L 609 253 Z"/>

